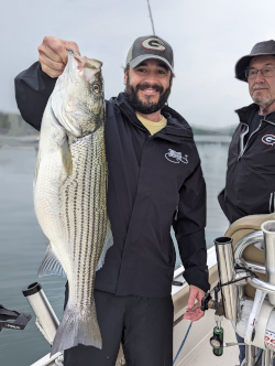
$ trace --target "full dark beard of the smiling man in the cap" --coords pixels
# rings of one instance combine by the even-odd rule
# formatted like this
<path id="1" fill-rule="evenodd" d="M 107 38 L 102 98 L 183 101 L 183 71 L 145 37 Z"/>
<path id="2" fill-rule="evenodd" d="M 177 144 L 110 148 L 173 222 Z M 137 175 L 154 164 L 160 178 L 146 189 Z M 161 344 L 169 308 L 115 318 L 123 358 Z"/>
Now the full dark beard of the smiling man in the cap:
<path id="1" fill-rule="evenodd" d="M 151 96 L 146 96 L 146 101 L 142 101 L 138 97 L 139 90 L 145 90 L 152 88 L 156 92 L 160 92 L 160 99 L 157 103 L 150 101 Z M 167 89 L 163 90 L 163 87 L 157 84 L 138 84 L 135 87 L 129 83 L 129 77 L 127 79 L 127 86 L 124 90 L 124 95 L 129 104 L 133 107 L 134 110 L 143 114 L 143 115 L 151 115 L 155 111 L 162 109 L 165 105 L 165 103 L 168 100 L 170 94 L 170 86 L 167 87 Z"/>

